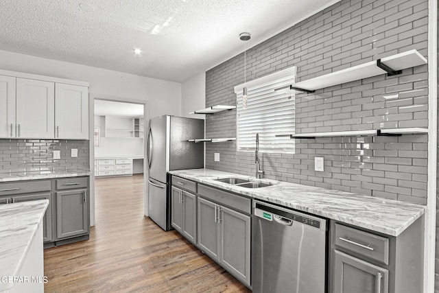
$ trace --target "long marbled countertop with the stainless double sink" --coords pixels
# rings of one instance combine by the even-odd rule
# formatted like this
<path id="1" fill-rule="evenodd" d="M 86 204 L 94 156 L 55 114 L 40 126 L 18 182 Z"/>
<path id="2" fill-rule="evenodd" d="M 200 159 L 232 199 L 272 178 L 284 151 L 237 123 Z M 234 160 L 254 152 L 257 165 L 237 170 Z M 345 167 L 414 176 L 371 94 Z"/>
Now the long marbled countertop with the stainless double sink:
<path id="1" fill-rule="evenodd" d="M 187 169 L 169 172 L 173 175 L 218 187 L 250 198 L 265 200 L 284 207 L 313 213 L 325 218 L 353 224 L 391 236 L 400 235 L 420 218 L 425 206 L 388 200 L 345 191 L 323 189 L 276 180 L 256 179 L 211 169 Z M 252 181 L 270 182 L 274 185 L 249 189 L 215 181 L 230 176 L 250 178 Z"/>

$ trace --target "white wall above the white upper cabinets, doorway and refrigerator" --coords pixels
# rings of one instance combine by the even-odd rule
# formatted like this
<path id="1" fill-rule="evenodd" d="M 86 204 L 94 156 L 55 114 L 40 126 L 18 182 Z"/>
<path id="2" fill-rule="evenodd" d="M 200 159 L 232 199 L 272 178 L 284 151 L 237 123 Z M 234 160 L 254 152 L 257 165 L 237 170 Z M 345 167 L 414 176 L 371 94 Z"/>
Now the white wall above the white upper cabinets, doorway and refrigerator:
<path id="1" fill-rule="evenodd" d="M 0 69 L 89 82 L 88 91 L 149 101 L 150 118 L 180 115 L 182 84 L 0 50 Z M 204 98 L 203 98 L 204 99 Z"/>

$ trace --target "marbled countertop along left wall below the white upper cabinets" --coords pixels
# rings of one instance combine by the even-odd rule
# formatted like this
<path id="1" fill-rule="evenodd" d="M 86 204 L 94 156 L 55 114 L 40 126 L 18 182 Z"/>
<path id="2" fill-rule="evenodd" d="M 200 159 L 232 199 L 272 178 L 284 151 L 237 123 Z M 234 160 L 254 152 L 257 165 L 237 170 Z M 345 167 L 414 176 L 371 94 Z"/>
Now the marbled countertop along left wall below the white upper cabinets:
<path id="1" fill-rule="evenodd" d="M 64 178 L 64 177 L 79 177 L 79 176 L 90 176 L 90 170 L 88 170 L 88 169 L 69 169 L 69 170 L 64 170 L 64 171 L 0 173 L 0 182 Z"/>

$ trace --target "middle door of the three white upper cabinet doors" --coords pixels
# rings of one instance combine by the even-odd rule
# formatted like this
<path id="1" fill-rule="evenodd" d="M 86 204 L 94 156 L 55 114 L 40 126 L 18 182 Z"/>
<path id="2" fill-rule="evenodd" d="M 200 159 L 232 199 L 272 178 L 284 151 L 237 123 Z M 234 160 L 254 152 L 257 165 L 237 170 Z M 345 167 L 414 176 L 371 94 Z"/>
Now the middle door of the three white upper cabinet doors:
<path id="1" fill-rule="evenodd" d="M 55 137 L 55 83 L 16 79 L 16 137 Z"/>

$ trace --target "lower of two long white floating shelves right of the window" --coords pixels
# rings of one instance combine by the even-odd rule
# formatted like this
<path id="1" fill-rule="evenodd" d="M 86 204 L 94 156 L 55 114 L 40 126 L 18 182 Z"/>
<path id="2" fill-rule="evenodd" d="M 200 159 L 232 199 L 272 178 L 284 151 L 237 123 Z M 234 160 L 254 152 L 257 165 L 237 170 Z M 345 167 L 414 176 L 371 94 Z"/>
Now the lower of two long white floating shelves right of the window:
<path id="1" fill-rule="evenodd" d="M 364 137 L 375 136 L 400 136 L 402 134 L 427 134 L 427 128 L 394 128 L 374 130 L 351 130 L 335 132 L 312 132 L 301 134 L 278 134 L 276 137 L 289 137 L 290 139 L 315 139 L 316 137 Z"/>

